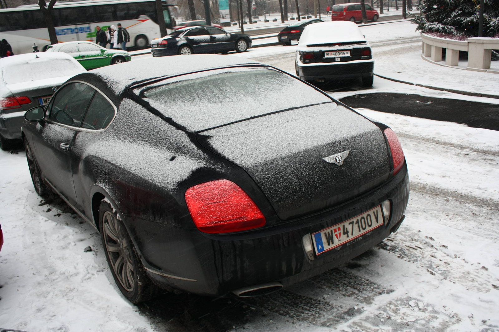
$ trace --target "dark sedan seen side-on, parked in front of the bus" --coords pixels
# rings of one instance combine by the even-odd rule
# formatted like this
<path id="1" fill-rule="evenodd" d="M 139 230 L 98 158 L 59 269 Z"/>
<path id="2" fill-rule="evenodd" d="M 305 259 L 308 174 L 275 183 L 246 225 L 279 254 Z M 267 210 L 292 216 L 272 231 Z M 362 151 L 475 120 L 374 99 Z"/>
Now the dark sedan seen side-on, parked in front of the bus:
<path id="1" fill-rule="evenodd" d="M 155 39 L 151 47 L 153 56 L 245 52 L 251 47 L 251 38 L 247 34 L 230 33 L 214 26 L 196 26 Z"/>

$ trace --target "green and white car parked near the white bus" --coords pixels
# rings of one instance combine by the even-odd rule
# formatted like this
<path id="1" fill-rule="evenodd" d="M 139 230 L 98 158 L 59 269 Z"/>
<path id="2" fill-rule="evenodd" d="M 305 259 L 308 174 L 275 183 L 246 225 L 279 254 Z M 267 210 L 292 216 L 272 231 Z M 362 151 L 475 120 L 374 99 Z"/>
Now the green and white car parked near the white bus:
<path id="1" fill-rule="evenodd" d="M 46 52 L 64 52 L 75 58 L 86 69 L 95 69 L 132 59 L 121 49 L 107 49 L 91 41 L 67 41 L 48 45 Z"/>

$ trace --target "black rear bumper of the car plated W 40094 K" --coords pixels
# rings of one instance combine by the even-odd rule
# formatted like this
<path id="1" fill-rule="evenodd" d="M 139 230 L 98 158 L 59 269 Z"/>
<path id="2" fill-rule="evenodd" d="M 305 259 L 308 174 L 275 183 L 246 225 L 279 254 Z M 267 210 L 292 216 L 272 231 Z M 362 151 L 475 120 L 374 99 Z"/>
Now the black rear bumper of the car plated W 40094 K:
<path id="1" fill-rule="evenodd" d="M 368 77 L 372 76 L 373 70 L 373 60 L 357 60 L 353 63 L 310 63 L 306 65 L 302 65 L 298 62 L 298 75 L 305 81 L 312 81 L 315 79 Z"/>

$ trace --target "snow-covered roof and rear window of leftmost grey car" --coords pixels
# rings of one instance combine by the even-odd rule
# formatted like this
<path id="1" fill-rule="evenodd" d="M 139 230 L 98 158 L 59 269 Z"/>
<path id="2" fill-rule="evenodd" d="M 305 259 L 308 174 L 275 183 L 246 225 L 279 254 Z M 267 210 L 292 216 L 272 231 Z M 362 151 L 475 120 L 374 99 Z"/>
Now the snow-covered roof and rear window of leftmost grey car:
<path id="1" fill-rule="evenodd" d="M 86 72 L 73 57 L 62 52 L 37 52 L 0 59 L 0 85 L 21 84 Z M 62 83 L 62 82 L 61 82 Z"/>

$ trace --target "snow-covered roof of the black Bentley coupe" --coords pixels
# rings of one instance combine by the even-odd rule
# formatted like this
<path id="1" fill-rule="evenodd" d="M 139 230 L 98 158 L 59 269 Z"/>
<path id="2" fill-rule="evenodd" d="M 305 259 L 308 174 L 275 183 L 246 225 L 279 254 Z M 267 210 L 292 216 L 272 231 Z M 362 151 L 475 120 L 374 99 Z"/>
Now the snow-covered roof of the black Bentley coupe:
<path id="1" fill-rule="evenodd" d="M 245 64 L 261 64 L 261 62 L 231 55 L 174 55 L 101 67 L 78 75 L 74 79 L 91 82 L 97 78 L 104 81 L 115 95 L 121 95 L 131 85 L 151 79 Z"/>

